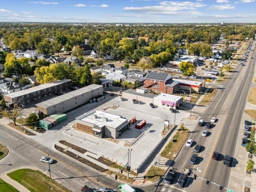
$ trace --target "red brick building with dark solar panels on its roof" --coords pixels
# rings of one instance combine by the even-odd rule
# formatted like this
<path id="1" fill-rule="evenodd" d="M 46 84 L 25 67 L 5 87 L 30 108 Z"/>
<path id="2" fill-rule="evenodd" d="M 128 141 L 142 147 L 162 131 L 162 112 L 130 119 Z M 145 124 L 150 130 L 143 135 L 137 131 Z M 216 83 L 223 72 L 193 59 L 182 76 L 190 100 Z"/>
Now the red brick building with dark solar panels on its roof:
<path id="1" fill-rule="evenodd" d="M 180 84 L 168 73 L 151 71 L 145 77 L 144 87 L 157 93 L 173 94 L 179 90 Z"/>

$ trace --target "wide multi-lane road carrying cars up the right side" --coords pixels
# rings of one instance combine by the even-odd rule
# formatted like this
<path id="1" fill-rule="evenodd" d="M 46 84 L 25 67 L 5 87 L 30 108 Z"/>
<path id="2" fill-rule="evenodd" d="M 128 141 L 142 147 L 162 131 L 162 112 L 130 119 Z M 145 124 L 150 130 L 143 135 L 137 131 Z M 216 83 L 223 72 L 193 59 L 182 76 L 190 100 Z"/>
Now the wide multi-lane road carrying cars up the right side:
<path id="1" fill-rule="evenodd" d="M 208 129 L 210 134 L 208 133 L 207 137 L 202 137 L 202 130 L 206 128 L 195 125 L 195 130 L 190 135 L 190 138 L 194 140 L 193 146 L 190 148 L 184 146 L 175 159 L 173 168 L 177 172 L 182 172 L 185 167 L 193 169 L 193 174 L 186 180 L 186 186 L 180 188 L 176 183 L 164 185 L 163 192 L 170 189 L 172 192 L 180 190 L 214 192 L 218 191 L 220 186 L 224 188 L 232 186 L 229 185 L 230 173 L 232 168 L 241 163 L 238 161 L 238 157 L 234 155 L 236 145 L 241 145 L 240 139 L 242 135 L 239 135 L 239 132 L 241 132 L 244 126 L 244 119 L 242 117 L 252 77 L 254 76 L 255 60 L 251 57 L 255 57 L 255 50 L 250 53 L 247 62 L 244 62 L 245 66 L 238 64 L 225 84 L 214 85 L 218 88 L 218 94 L 207 109 L 202 114 L 198 114 L 204 121 L 210 121 L 213 116 L 217 118 L 216 123 Z M 192 165 L 189 161 L 192 154 L 195 153 L 193 148 L 196 144 L 201 144 L 203 147 L 201 152 L 198 153 L 197 164 Z M 219 160 L 217 161 L 212 159 L 214 151 L 220 153 Z M 226 154 L 232 157 L 230 167 L 223 164 L 223 158 Z M 245 150 L 242 151 L 241 155 L 246 157 Z M 196 180 L 194 180 L 194 174 L 197 175 Z M 241 170 L 240 174 L 243 175 L 244 170 Z M 210 181 L 208 185 L 206 180 Z M 243 180 L 240 180 L 239 183 L 232 190 L 242 191 Z"/>

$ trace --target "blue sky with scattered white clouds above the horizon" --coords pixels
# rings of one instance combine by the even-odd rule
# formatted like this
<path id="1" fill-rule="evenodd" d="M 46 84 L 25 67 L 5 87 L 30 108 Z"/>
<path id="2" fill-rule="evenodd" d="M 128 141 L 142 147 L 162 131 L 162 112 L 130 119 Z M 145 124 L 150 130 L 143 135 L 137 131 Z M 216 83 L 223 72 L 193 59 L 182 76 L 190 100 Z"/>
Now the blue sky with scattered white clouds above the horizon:
<path id="1" fill-rule="evenodd" d="M 0 0 L 0 22 L 255 23 L 256 0 Z"/>

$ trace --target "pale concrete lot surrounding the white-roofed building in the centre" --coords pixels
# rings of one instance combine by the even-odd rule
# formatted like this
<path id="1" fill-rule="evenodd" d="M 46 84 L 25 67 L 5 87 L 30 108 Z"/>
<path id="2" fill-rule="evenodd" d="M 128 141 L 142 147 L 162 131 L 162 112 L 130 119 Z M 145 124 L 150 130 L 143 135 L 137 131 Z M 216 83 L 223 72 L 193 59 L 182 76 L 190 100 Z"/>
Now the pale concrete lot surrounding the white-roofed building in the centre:
<path id="1" fill-rule="evenodd" d="M 119 106 L 116 109 L 108 108 L 110 106 Z M 95 136 L 74 130 L 72 125 L 76 122 L 76 117 L 84 114 L 90 110 L 102 110 L 108 108 L 105 112 L 121 115 L 128 121 L 136 116 L 137 122 L 140 120 L 146 120 L 146 126 L 141 130 L 135 128 L 135 124 L 131 124 L 130 129 L 126 130 L 116 142 L 112 142 L 108 139 L 101 139 Z M 31 110 L 31 109 L 26 109 Z M 100 102 L 86 104 L 80 108 L 77 108 L 71 112 L 66 113 L 68 119 L 52 129 L 46 131 L 44 134 L 38 134 L 31 138 L 36 141 L 53 148 L 54 144 L 58 144 L 59 140 L 66 140 L 72 144 L 80 146 L 88 152 L 84 154 L 93 157 L 104 156 L 118 162 L 119 164 L 126 164 L 128 161 L 127 152 L 128 149 L 132 149 L 131 154 L 131 167 L 137 169 L 147 156 L 154 150 L 159 142 L 163 139 L 161 136 L 161 130 L 164 128 L 164 120 L 169 120 L 170 124 L 174 123 L 174 117 L 176 124 L 179 124 L 183 118 L 189 116 L 188 112 L 178 110 L 176 114 L 171 113 L 166 106 L 158 106 L 157 108 L 151 108 L 149 104 L 133 104 L 132 100 L 121 101 L 119 96 L 110 96 L 107 94 L 105 100 Z M 126 142 L 134 141 L 139 134 L 143 134 L 136 142 L 131 146 L 125 146 Z"/>

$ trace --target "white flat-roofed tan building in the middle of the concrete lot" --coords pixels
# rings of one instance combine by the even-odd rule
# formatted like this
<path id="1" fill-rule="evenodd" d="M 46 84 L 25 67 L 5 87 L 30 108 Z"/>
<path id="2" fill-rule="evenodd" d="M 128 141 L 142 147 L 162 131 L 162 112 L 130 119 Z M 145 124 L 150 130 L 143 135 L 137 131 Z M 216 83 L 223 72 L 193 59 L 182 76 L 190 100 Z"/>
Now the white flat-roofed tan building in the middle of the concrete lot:
<path id="1" fill-rule="evenodd" d="M 98 110 L 93 110 L 76 118 L 76 128 L 100 138 L 117 139 L 129 126 L 127 119 Z"/>

